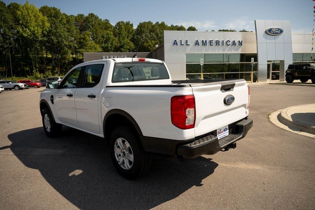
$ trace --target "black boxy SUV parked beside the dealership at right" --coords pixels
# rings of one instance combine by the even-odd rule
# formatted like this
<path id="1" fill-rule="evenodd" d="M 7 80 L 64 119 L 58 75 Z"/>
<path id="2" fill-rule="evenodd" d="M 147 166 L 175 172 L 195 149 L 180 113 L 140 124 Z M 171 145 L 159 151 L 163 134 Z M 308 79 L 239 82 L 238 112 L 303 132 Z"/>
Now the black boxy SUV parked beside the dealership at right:
<path id="1" fill-rule="evenodd" d="M 315 84 L 315 64 L 290 64 L 288 70 L 285 71 L 285 81 L 291 83 L 295 79 L 300 79 L 301 82 L 307 82 L 308 79 L 311 79 L 312 83 Z"/>

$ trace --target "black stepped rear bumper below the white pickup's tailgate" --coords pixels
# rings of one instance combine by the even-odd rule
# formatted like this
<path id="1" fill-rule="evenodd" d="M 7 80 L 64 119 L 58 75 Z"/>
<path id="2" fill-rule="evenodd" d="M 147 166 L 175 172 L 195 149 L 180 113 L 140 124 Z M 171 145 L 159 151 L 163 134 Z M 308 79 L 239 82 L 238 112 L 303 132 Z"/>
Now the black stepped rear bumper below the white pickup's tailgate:
<path id="1" fill-rule="evenodd" d="M 252 119 L 244 119 L 233 125 L 232 133 L 230 135 L 222 139 L 218 139 L 216 136 L 211 134 L 198 138 L 188 144 L 180 145 L 177 149 L 177 155 L 184 158 L 194 158 L 204 154 L 213 155 L 228 147 L 231 143 L 244 138 L 252 126 Z"/>

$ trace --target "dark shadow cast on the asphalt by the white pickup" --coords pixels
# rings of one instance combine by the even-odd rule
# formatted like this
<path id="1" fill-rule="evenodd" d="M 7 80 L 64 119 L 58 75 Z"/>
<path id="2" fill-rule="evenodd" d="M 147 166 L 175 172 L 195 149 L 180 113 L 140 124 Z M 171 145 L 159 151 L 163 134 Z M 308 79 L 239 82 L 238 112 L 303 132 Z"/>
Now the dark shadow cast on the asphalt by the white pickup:
<path id="1" fill-rule="evenodd" d="M 201 186 L 218 166 L 202 156 L 154 156 L 147 176 L 127 180 L 112 165 L 106 141 L 92 134 L 63 126 L 60 138 L 48 138 L 39 127 L 8 138 L 10 149 L 26 167 L 39 170 L 55 190 L 80 209 L 153 208 Z"/>

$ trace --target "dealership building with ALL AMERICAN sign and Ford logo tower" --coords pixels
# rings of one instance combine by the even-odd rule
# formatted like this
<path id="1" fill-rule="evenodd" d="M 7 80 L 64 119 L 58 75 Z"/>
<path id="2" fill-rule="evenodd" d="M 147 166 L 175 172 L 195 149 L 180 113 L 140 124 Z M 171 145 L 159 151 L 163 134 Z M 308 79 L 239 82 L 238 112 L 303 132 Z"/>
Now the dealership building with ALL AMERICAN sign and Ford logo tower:
<path id="1" fill-rule="evenodd" d="M 284 81 L 289 64 L 314 61 L 310 53 L 311 33 L 292 33 L 287 20 L 254 23 L 255 32 L 164 31 L 163 45 L 151 52 L 138 53 L 137 57 L 164 60 L 173 80 L 250 81 L 253 71 L 253 80 L 257 82 Z M 134 54 L 84 53 L 83 57 L 89 61 Z"/>

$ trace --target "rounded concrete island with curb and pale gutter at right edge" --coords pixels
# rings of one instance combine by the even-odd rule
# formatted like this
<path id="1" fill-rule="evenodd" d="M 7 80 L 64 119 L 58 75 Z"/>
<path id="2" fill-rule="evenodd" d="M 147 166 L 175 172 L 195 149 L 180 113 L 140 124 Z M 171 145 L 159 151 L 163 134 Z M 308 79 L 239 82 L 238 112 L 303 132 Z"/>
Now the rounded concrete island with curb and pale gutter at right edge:
<path id="1" fill-rule="evenodd" d="M 290 106 L 269 115 L 276 126 L 315 138 L 315 104 Z"/>

